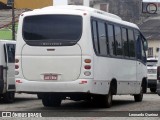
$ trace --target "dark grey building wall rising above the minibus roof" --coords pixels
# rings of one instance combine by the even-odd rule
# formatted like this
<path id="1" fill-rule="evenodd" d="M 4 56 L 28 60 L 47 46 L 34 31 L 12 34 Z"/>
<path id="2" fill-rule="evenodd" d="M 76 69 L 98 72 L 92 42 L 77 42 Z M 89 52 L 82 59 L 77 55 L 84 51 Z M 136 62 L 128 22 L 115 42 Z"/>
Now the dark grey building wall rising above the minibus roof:
<path id="1" fill-rule="evenodd" d="M 142 22 L 142 0 L 93 0 L 92 6 L 136 24 Z"/>

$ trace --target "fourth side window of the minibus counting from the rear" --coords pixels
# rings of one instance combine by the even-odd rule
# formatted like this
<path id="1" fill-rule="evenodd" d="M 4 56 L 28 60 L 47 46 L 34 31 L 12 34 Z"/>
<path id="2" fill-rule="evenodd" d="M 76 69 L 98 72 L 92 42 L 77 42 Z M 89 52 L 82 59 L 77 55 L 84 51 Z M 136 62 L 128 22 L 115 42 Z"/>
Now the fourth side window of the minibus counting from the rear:
<path id="1" fill-rule="evenodd" d="M 121 28 L 119 26 L 115 26 L 115 45 L 116 45 L 116 54 L 118 56 L 123 55 L 123 46 L 122 46 L 122 36 L 121 36 Z"/>

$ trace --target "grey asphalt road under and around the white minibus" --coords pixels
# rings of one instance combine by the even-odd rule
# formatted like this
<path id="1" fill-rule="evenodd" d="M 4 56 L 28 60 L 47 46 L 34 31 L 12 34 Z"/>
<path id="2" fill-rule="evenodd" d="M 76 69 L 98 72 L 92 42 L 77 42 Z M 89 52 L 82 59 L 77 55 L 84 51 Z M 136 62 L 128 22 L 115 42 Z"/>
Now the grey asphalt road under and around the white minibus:
<path id="1" fill-rule="evenodd" d="M 106 117 L 111 117 L 112 119 L 113 117 L 116 117 L 116 119 L 118 117 L 123 117 L 125 120 L 128 119 L 128 117 L 130 119 L 136 119 L 137 117 L 133 114 L 144 115 L 143 117 L 138 117 L 137 119 L 143 120 L 145 118 L 145 120 L 158 120 L 160 119 L 160 96 L 148 92 L 147 94 L 144 94 L 142 102 L 134 102 L 133 96 L 117 95 L 113 97 L 113 105 L 111 108 L 97 108 L 88 102 L 75 102 L 70 100 L 64 100 L 61 107 L 50 108 L 44 107 L 41 100 L 37 99 L 36 95 L 16 94 L 14 103 L 5 104 L 0 102 L 0 111 L 39 112 L 42 116 L 50 116 L 54 119 L 56 118 L 63 120 L 68 117 L 71 119 L 85 120 L 103 120 L 107 119 Z M 154 114 L 158 114 L 159 117 L 149 116 Z"/>

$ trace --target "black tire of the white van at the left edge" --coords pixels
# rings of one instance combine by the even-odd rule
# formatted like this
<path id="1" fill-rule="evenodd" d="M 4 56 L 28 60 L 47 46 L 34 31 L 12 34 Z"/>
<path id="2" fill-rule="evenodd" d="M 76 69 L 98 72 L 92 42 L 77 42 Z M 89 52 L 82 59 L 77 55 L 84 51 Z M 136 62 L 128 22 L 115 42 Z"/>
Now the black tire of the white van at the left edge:
<path id="1" fill-rule="evenodd" d="M 15 92 L 7 92 L 3 95 L 4 103 L 13 103 L 15 99 Z"/>

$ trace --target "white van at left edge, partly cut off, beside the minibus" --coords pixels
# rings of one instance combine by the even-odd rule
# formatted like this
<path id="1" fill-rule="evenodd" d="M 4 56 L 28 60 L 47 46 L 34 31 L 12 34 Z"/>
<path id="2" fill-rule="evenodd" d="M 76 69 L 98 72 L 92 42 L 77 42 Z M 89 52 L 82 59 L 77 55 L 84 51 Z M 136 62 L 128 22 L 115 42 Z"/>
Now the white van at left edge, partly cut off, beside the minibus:
<path id="1" fill-rule="evenodd" d="M 15 41 L 0 40 L 0 97 L 6 103 L 15 95 Z"/>

